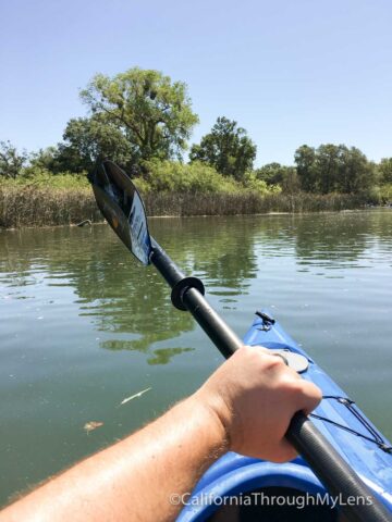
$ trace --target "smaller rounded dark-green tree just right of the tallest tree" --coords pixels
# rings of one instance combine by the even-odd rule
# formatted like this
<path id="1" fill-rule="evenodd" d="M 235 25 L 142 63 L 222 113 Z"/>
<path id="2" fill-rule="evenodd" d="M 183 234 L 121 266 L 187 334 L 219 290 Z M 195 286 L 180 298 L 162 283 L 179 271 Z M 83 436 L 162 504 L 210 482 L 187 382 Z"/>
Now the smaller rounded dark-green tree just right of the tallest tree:
<path id="1" fill-rule="evenodd" d="M 241 181 L 245 172 L 253 167 L 256 151 L 256 145 L 246 130 L 222 116 L 218 117 L 211 132 L 201 138 L 199 145 L 192 146 L 189 160 L 208 163 L 221 174 Z"/>

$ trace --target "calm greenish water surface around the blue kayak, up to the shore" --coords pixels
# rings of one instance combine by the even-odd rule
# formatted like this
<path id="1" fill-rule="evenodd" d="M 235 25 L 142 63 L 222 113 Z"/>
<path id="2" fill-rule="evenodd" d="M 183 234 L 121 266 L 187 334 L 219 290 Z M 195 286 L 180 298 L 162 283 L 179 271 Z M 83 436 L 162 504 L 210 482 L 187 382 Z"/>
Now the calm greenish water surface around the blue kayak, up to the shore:
<path id="1" fill-rule="evenodd" d="M 150 228 L 240 335 L 269 309 L 392 438 L 392 211 Z M 222 361 L 105 225 L 0 232 L 0 358 L 1 504 L 155 418 Z M 87 434 L 90 421 L 103 425 Z"/>

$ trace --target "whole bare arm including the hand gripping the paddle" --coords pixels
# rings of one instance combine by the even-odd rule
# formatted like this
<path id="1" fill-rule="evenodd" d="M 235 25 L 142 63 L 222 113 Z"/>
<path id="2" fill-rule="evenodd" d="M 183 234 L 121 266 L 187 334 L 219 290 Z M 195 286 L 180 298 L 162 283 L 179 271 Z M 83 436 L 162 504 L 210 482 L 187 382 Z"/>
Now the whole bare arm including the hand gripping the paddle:
<path id="1" fill-rule="evenodd" d="M 0 522 L 172 521 L 181 507 L 171 495 L 191 492 L 229 449 L 292 459 L 284 439 L 290 420 L 320 398 L 280 358 L 244 347 L 196 394 L 10 506 Z"/>

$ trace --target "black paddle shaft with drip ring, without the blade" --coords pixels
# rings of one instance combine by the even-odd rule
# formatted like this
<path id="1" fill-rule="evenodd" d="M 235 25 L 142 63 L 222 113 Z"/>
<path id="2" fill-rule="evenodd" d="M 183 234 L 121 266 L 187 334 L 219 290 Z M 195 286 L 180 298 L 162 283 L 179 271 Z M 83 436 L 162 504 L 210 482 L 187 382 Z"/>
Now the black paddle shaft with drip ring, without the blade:
<path id="1" fill-rule="evenodd" d="M 240 337 L 204 298 L 204 286 L 199 279 L 185 277 L 152 237 L 151 246 L 150 261 L 172 288 L 173 304 L 188 310 L 228 359 L 243 346 Z M 306 459 L 330 495 L 338 497 L 338 506 L 346 520 L 391 522 L 387 508 L 304 413 L 294 415 L 286 438 Z"/>

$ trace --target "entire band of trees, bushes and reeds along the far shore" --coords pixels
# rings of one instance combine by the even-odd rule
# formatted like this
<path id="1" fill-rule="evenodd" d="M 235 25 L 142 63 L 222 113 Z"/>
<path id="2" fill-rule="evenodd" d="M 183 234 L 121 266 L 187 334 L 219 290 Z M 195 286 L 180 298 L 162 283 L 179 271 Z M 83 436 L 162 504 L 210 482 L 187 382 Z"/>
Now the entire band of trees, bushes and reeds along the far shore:
<path id="1" fill-rule="evenodd" d="M 219 116 L 199 144 L 187 86 L 159 71 L 97 74 L 63 140 L 27 153 L 0 140 L 0 227 L 101 222 L 88 176 L 110 159 L 134 179 L 150 216 L 322 212 L 391 204 L 392 158 L 343 144 L 302 145 L 292 165 L 255 167 L 257 145 Z M 188 150 L 187 163 L 184 152 Z"/>

